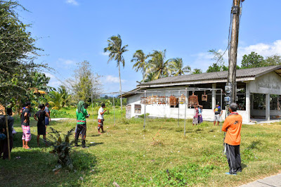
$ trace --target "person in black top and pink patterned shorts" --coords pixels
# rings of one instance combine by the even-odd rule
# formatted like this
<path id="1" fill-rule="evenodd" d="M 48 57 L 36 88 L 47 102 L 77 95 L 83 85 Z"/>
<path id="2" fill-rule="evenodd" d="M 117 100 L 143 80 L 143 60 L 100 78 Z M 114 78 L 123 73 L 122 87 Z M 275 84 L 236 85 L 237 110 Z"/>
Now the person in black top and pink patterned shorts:
<path id="1" fill-rule="evenodd" d="M 31 133 L 30 133 L 30 108 L 31 103 L 27 101 L 25 103 L 25 109 L 22 110 L 21 115 L 21 124 L 22 124 L 22 148 L 30 149 L 27 145 L 29 141 L 31 141 Z"/>

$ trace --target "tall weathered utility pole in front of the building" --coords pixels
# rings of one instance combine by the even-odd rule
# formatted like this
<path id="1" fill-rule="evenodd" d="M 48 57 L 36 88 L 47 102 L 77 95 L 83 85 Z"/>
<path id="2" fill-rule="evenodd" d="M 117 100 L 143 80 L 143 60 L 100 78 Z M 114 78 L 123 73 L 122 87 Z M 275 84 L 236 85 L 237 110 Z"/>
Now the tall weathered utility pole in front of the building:
<path id="1" fill-rule="evenodd" d="M 236 65 L 241 12 L 240 3 L 241 0 L 233 0 L 233 7 L 231 9 L 233 22 L 231 28 L 230 53 L 228 56 L 228 82 L 226 86 L 226 92 L 228 93 L 227 95 L 229 97 L 229 101 L 227 103 L 236 103 L 237 97 Z"/>

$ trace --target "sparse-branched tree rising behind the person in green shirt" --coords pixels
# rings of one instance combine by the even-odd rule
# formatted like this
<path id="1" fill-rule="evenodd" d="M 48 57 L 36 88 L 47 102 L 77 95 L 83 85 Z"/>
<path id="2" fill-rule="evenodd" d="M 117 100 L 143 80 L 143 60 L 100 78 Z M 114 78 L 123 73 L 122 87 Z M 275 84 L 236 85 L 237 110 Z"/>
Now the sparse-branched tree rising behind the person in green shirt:
<path id="1" fill-rule="evenodd" d="M 73 93 L 74 101 L 84 101 L 90 103 L 91 94 L 99 95 L 101 91 L 100 76 L 92 71 L 88 61 L 77 63 L 77 69 L 74 70 L 73 78 L 67 80 L 70 90 Z"/>

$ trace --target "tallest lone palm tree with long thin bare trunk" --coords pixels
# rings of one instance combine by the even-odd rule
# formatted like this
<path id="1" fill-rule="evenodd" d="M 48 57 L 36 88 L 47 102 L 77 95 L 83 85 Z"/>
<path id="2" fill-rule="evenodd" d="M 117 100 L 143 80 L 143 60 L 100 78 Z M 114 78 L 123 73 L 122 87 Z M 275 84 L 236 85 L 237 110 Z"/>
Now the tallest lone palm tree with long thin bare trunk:
<path id="1" fill-rule="evenodd" d="M 105 52 L 110 51 L 109 59 L 107 63 L 110 62 L 110 60 L 116 60 L 117 66 L 119 68 L 119 89 L 120 89 L 120 105 L 121 105 L 121 111 L 122 111 L 122 85 L 121 85 L 121 75 L 120 75 L 120 63 L 122 63 L 123 68 L 125 66 L 125 60 L 123 57 L 123 53 L 128 51 L 126 47 L 128 45 L 122 46 L 122 39 L 119 34 L 117 36 L 112 36 L 110 39 L 107 39 L 108 46 L 104 49 Z"/>

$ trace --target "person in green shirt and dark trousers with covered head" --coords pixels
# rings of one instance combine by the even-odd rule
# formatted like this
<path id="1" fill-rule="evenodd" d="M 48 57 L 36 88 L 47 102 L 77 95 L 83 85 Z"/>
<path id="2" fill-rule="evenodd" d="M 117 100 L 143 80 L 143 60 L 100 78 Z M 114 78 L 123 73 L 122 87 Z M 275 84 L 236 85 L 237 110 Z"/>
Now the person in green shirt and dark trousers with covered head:
<path id="1" fill-rule="evenodd" d="M 85 139 L 86 139 L 86 117 L 89 117 L 88 112 L 85 108 L 84 101 L 79 101 L 76 110 L 77 118 L 77 131 L 75 133 L 75 146 L 78 146 L 78 138 L 81 132 L 82 135 L 82 148 L 86 148 Z"/>

